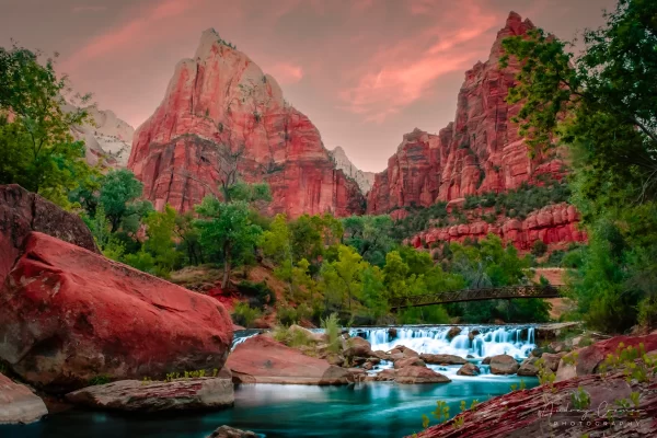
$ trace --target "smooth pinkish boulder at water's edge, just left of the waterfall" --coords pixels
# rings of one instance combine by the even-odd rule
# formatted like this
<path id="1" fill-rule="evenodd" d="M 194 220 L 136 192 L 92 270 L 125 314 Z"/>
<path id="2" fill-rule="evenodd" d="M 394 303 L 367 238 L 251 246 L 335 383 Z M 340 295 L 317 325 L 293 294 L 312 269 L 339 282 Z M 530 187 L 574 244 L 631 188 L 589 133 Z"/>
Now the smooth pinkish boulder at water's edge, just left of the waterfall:
<path id="1" fill-rule="evenodd" d="M 238 345 L 228 357 L 227 366 L 235 383 L 346 384 L 354 381 L 346 369 L 306 356 L 264 335 Z"/>

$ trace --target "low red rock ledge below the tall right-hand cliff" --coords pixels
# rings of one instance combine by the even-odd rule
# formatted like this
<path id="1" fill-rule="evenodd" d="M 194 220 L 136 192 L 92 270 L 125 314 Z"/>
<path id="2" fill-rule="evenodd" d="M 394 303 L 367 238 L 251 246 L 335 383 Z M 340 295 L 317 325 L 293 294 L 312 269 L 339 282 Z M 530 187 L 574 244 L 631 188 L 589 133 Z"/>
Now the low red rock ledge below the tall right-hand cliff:
<path id="1" fill-rule="evenodd" d="M 446 228 L 433 228 L 415 235 L 412 244 L 419 247 L 434 242 L 463 242 L 481 240 L 488 233 L 499 235 L 518 250 L 530 250 L 537 240 L 544 243 L 586 242 L 586 232 L 579 229 L 580 216 L 567 204 L 546 206 L 530 214 L 527 219 L 505 218 L 502 224 L 477 220 Z"/>

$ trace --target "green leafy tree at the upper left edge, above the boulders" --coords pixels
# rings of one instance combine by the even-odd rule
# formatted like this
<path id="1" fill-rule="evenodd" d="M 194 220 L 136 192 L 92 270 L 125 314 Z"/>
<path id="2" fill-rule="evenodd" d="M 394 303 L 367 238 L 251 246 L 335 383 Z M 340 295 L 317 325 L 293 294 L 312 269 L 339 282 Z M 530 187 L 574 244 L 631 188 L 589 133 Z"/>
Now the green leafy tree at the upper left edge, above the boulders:
<path id="1" fill-rule="evenodd" d="M 68 110 L 67 78 L 57 77 L 54 59 L 42 65 L 39 56 L 0 47 L 0 184 L 20 184 L 69 207 L 68 193 L 92 173 L 84 143 L 71 136 L 88 113 Z M 89 99 L 80 96 L 82 103 Z"/>

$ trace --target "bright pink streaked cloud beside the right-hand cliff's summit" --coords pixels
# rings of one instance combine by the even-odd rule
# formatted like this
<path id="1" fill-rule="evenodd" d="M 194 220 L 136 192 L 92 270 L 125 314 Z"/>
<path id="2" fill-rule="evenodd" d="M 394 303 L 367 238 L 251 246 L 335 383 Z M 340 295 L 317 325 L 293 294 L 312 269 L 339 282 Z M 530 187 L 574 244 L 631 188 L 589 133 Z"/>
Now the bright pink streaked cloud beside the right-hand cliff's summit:
<path id="1" fill-rule="evenodd" d="M 411 13 L 417 13 L 437 2 L 416 0 L 413 4 Z M 468 20 L 456 20 L 457 16 Z M 366 122 L 382 123 L 425 96 L 441 76 L 470 68 L 485 54 L 479 37 L 497 23 L 496 13 L 484 11 L 472 1 L 461 2 L 435 26 L 370 57 L 356 74 L 355 83 L 341 91 L 339 97 L 345 102 L 342 107 L 361 115 Z"/>

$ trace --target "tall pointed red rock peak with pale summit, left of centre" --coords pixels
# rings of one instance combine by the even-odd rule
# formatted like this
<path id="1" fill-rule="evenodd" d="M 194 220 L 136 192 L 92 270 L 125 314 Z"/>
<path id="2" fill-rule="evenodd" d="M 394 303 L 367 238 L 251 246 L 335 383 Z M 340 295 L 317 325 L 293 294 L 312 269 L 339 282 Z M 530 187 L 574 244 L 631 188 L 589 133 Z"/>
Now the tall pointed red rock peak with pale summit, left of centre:
<path id="1" fill-rule="evenodd" d="M 320 132 L 274 78 L 209 30 L 175 68 L 165 97 L 138 128 L 128 168 L 157 208 L 191 210 L 239 173 L 269 184 L 267 212 L 362 212 L 356 182 L 336 170 Z"/>

